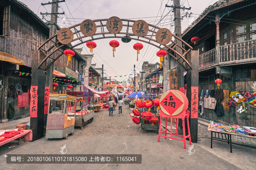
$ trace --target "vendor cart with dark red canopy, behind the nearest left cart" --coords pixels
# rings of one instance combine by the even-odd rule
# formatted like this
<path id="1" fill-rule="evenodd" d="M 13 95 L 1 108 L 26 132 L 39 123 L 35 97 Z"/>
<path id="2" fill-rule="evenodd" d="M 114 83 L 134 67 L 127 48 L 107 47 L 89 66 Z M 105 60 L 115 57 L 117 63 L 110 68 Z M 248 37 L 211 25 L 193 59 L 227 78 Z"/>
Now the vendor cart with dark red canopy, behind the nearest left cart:
<path id="1" fill-rule="evenodd" d="M 69 91 L 67 94 L 72 94 L 76 97 L 76 99 L 80 99 L 80 102 L 85 102 L 86 97 L 92 97 L 91 93 L 88 92 L 80 92 L 80 91 Z M 93 121 L 93 117 L 95 116 L 93 110 L 90 106 L 87 106 L 87 110 L 83 110 L 77 112 L 76 110 L 68 113 L 69 116 L 75 117 L 75 127 L 80 127 L 83 129 L 83 126 L 87 123 L 91 123 Z"/>

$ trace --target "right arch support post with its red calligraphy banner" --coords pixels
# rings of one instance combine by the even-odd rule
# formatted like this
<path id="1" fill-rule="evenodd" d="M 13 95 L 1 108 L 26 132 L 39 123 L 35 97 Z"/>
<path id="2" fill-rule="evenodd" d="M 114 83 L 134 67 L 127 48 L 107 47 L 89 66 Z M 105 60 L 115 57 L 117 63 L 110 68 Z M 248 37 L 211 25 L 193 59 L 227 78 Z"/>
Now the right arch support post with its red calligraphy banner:
<path id="1" fill-rule="evenodd" d="M 191 142 L 197 143 L 198 140 L 198 102 L 199 102 L 199 51 L 190 51 L 187 54 L 187 60 L 191 64 L 190 70 L 187 71 L 187 92 L 186 96 L 189 99 L 189 126 Z M 186 125 L 186 123 L 185 123 Z M 186 128 L 186 135 L 188 135 Z"/>

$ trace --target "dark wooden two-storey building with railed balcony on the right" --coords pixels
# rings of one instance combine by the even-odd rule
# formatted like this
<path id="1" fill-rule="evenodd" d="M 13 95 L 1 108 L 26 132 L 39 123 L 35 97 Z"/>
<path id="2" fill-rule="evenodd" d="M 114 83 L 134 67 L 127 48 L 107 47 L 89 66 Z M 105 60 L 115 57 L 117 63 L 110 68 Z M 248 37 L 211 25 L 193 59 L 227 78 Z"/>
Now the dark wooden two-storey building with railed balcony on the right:
<path id="1" fill-rule="evenodd" d="M 183 32 L 182 39 L 199 50 L 199 94 L 201 90 L 204 94 L 206 90 L 216 90 L 217 78 L 223 81 L 220 88 L 229 91 L 227 97 L 232 91 L 250 91 L 250 94 L 256 91 L 253 88 L 256 82 L 255 8 L 256 0 L 219 0 Z M 196 36 L 199 40 L 194 44 L 191 39 Z M 249 104 L 245 103 L 246 111 L 239 110 L 241 103 L 236 107 L 223 104 L 224 116 L 216 116 L 214 110 L 204 108 L 204 114 L 199 117 L 256 127 L 256 109 Z"/>

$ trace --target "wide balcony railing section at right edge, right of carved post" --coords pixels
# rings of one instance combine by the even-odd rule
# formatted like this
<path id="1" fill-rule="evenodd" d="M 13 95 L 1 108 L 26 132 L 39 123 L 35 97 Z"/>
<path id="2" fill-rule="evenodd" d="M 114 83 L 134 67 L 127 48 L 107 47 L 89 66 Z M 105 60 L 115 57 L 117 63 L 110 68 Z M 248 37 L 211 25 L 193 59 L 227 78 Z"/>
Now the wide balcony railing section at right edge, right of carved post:
<path id="1" fill-rule="evenodd" d="M 220 46 L 220 62 L 256 58 L 256 40 Z"/>

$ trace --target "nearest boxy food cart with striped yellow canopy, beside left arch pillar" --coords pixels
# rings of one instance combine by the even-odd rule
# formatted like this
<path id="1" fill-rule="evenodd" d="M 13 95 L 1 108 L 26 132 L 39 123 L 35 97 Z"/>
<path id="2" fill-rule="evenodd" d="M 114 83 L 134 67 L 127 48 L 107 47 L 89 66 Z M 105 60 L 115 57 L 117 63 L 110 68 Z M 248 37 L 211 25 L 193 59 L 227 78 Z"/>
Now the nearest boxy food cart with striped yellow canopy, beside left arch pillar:
<path id="1" fill-rule="evenodd" d="M 74 125 L 75 125 L 75 117 L 68 117 L 66 112 L 66 106 L 71 103 L 71 101 L 76 101 L 75 96 L 70 96 L 67 94 L 49 94 L 49 103 L 51 100 L 59 100 L 62 101 L 64 105 L 64 109 L 62 113 L 49 113 L 47 116 L 47 126 L 46 126 L 46 139 L 54 139 L 54 138 L 68 138 L 68 135 L 74 134 Z M 66 105 L 67 104 L 67 105 Z M 50 105 L 49 105 L 50 106 Z M 71 105 L 70 105 L 71 107 Z M 71 109 L 71 108 L 70 108 Z"/>

